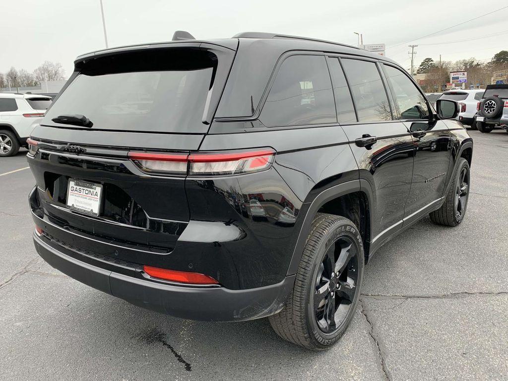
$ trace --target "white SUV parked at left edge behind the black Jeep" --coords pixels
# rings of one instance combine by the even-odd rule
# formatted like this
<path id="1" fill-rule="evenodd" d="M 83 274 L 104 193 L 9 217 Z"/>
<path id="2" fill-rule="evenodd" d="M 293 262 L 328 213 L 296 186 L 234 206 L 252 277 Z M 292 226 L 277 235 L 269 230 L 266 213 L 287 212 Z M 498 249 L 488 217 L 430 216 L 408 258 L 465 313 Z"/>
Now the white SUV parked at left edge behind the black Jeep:
<path id="1" fill-rule="evenodd" d="M 51 97 L 37 94 L 0 93 L 0 157 L 13 156 L 38 124 Z"/>

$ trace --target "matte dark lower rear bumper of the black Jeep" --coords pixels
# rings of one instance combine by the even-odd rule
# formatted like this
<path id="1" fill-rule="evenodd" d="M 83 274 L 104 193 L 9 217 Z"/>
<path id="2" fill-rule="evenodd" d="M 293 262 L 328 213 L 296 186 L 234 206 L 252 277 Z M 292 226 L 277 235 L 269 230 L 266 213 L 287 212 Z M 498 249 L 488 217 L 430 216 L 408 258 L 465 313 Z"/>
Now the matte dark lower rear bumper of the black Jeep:
<path id="1" fill-rule="evenodd" d="M 281 282 L 247 290 L 188 287 L 139 279 L 94 266 L 55 248 L 45 236 L 34 234 L 39 255 L 55 269 L 97 290 L 137 306 L 183 319 L 244 321 L 277 313 L 293 288 L 295 275 Z"/>

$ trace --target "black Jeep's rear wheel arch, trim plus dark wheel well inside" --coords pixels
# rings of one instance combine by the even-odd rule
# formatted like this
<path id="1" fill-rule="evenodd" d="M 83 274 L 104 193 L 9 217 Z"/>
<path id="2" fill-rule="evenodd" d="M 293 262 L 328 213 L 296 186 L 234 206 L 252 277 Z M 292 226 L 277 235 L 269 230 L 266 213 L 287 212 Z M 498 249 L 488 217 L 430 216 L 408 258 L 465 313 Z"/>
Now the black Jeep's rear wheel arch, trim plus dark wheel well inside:
<path id="1" fill-rule="evenodd" d="M 365 259 L 367 260 L 370 232 L 372 231 L 372 200 L 371 187 L 363 179 L 345 181 L 322 190 L 321 193 L 308 203 L 309 206 L 300 228 L 287 275 L 296 274 L 298 270 L 303 247 L 310 232 L 310 226 L 314 216 L 318 212 L 341 215 L 359 224 L 360 234 L 364 243 Z M 347 208 L 348 206 L 353 206 L 353 208 Z"/>

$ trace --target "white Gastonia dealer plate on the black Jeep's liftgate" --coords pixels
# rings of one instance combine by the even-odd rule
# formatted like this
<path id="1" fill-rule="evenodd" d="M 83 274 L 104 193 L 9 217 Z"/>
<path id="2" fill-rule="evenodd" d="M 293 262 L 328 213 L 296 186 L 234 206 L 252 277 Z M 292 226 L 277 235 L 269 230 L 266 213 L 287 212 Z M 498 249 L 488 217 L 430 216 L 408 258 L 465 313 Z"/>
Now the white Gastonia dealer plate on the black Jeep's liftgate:
<path id="1" fill-rule="evenodd" d="M 102 185 L 69 179 L 67 206 L 83 213 L 98 216 L 101 207 Z"/>

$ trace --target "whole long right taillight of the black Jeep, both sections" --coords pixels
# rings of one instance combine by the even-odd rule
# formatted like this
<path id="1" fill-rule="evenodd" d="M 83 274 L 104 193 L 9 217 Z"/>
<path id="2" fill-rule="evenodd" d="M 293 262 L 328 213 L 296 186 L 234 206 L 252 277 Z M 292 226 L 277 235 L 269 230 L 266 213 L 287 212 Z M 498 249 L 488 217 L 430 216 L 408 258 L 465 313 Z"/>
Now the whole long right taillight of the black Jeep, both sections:
<path id="1" fill-rule="evenodd" d="M 237 175 L 263 171 L 273 163 L 275 151 L 199 152 L 187 154 L 129 152 L 129 158 L 148 173 L 193 176 Z"/>

